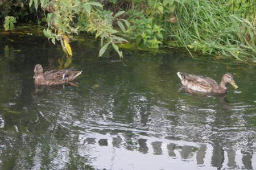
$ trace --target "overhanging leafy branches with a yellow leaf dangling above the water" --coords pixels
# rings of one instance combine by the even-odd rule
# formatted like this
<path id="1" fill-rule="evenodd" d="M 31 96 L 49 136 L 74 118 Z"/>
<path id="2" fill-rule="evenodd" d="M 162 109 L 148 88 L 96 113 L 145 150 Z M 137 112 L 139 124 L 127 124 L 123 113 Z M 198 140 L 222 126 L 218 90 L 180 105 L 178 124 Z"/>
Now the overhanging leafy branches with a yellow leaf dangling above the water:
<path id="1" fill-rule="evenodd" d="M 69 39 L 73 34 L 86 31 L 94 34 L 96 38 L 101 38 L 99 56 L 104 54 L 109 44 L 112 44 L 120 57 L 123 56 L 116 44 L 127 42 L 117 35 L 118 32 L 126 31 L 124 24 L 129 26 L 127 20 L 118 19 L 125 11 L 119 11 L 114 15 L 110 11 L 104 11 L 101 3 L 92 1 L 62 0 L 56 1 L 53 6 L 49 1 L 40 2 L 43 9 L 54 9 L 47 14 L 48 28 L 44 30 L 44 35 L 53 43 L 55 40 L 60 40 L 61 46 L 68 55 L 72 55 Z M 114 24 L 118 24 L 120 30 L 115 29 Z"/>

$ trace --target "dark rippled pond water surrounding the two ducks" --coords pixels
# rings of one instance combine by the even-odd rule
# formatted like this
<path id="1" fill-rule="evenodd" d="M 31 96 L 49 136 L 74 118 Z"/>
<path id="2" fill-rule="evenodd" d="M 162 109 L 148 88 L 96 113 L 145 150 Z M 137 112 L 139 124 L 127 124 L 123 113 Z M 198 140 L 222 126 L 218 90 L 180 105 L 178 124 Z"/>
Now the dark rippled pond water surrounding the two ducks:
<path id="1" fill-rule="evenodd" d="M 256 68 L 180 51 L 72 43 L 73 59 L 36 36 L 0 43 L 0 169 L 256 169 Z M 72 61 L 72 63 L 71 63 Z M 35 64 L 82 70 L 78 87 L 36 89 Z M 177 71 L 239 86 L 226 96 L 181 92 Z"/>

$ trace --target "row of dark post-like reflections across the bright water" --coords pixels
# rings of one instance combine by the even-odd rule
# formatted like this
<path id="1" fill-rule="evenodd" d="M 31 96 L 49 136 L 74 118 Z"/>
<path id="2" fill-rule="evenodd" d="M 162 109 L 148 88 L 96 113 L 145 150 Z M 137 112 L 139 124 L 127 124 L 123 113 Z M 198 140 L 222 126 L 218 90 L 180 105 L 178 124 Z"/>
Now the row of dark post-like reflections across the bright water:
<path id="1" fill-rule="evenodd" d="M 117 139 L 119 140 L 118 146 L 116 145 L 116 142 L 115 142 L 115 141 L 117 141 Z M 95 142 L 95 140 L 98 141 L 97 142 L 98 144 Z M 180 145 L 183 142 L 181 142 L 180 144 L 174 144 L 174 143 L 167 143 L 168 140 L 163 140 L 162 142 L 159 142 L 159 141 L 147 142 L 147 140 L 151 140 L 151 139 L 139 138 L 138 143 L 134 143 L 134 145 L 138 144 L 138 149 L 136 149 L 134 151 L 139 151 L 139 152 L 141 152 L 141 154 L 148 154 L 148 155 L 152 155 L 152 156 L 159 155 L 162 157 L 162 159 L 164 159 L 164 157 L 166 157 L 166 155 L 170 156 L 170 158 L 171 157 L 174 157 L 174 158 L 181 157 L 184 161 L 195 162 L 197 165 L 203 165 L 203 167 L 208 167 L 208 165 L 205 164 L 205 159 L 207 159 L 208 157 L 211 157 L 210 161 L 211 161 L 212 167 L 216 167 L 217 169 L 221 169 L 222 167 L 225 167 L 225 166 L 227 166 L 229 168 L 237 168 L 237 169 L 240 169 L 240 168 L 252 169 L 253 168 L 251 166 L 252 165 L 251 164 L 252 157 L 248 153 L 246 153 L 246 154 L 239 153 L 239 152 L 236 153 L 236 152 L 230 151 L 230 150 L 224 151 L 218 146 L 213 147 L 213 150 L 211 152 L 209 150 L 210 146 L 206 146 L 204 144 L 201 146 L 195 146 L 195 145 L 189 146 L 189 143 Z M 114 149 L 115 151 L 113 153 L 114 155 L 113 155 L 112 159 L 114 159 L 114 160 L 117 159 L 117 160 L 121 161 L 117 155 L 117 152 L 122 152 L 122 147 L 125 146 L 125 144 L 126 144 L 126 141 L 124 138 L 122 140 L 122 138 L 120 138 L 120 137 L 119 138 L 116 138 L 116 137 L 111 138 L 110 137 L 108 139 L 95 139 L 95 138 L 89 137 L 89 138 L 86 138 L 85 141 L 87 142 L 87 144 L 92 144 L 92 146 L 88 147 L 89 150 L 94 150 L 94 148 L 97 148 L 97 151 L 99 153 L 104 152 L 105 149 L 99 148 L 99 147 L 94 147 L 95 145 L 103 146 L 103 147 L 108 146 L 107 150 L 112 150 L 112 148 L 116 148 L 116 149 Z M 90 143 L 89 141 L 93 141 L 93 143 Z M 112 144 L 110 144 L 110 141 L 112 141 Z M 179 143 L 179 142 L 176 141 L 176 143 Z M 86 146 L 86 143 L 83 143 L 83 145 Z M 167 149 L 167 152 L 166 152 L 166 149 Z M 209 151 L 207 151 L 207 150 L 209 150 Z M 225 152 L 227 155 L 226 158 L 224 158 Z M 92 154 L 92 155 L 94 155 L 94 154 Z M 138 156 L 138 154 L 136 154 L 136 155 Z M 240 155 L 242 156 L 241 160 L 235 160 L 236 156 L 240 156 Z M 138 157 L 141 157 L 141 156 L 138 156 Z M 99 158 L 96 158 L 96 159 L 99 159 Z M 224 164 L 225 159 L 228 159 L 228 160 Z M 98 160 L 98 161 L 100 161 L 100 160 Z M 138 160 L 138 161 L 141 161 L 141 160 Z M 206 160 L 206 162 L 208 162 L 208 160 Z M 163 160 L 163 163 L 164 163 L 164 160 Z M 239 165 L 236 165 L 237 163 Z M 122 164 L 125 164 L 125 162 L 122 162 Z M 135 161 L 135 164 L 136 164 L 136 161 Z M 250 166 L 250 167 L 246 167 L 246 166 Z M 189 165 L 187 168 L 189 168 Z"/>

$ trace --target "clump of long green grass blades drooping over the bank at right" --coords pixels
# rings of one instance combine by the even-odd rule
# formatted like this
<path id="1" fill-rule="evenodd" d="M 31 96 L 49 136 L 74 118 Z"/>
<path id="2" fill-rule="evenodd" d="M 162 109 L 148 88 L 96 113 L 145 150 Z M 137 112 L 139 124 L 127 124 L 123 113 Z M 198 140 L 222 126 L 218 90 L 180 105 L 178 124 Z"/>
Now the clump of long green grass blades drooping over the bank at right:
<path id="1" fill-rule="evenodd" d="M 216 3 L 193 1 L 181 3 L 176 10 L 177 28 L 170 30 L 172 43 L 194 51 L 237 60 L 255 61 L 255 27 L 246 19 L 226 13 Z"/>

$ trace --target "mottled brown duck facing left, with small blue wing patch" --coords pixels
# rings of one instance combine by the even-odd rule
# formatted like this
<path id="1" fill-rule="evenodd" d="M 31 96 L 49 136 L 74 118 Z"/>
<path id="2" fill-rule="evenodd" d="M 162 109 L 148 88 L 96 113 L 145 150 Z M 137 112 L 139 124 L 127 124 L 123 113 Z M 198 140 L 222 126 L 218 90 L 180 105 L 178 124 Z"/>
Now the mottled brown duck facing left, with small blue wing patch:
<path id="1" fill-rule="evenodd" d="M 40 64 L 35 65 L 34 69 L 35 85 L 52 86 L 69 83 L 72 84 L 72 80 L 75 80 L 82 71 L 73 71 L 73 68 L 61 69 L 59 71 L 46 71 L 43 72 L 43 67 Z"/>

